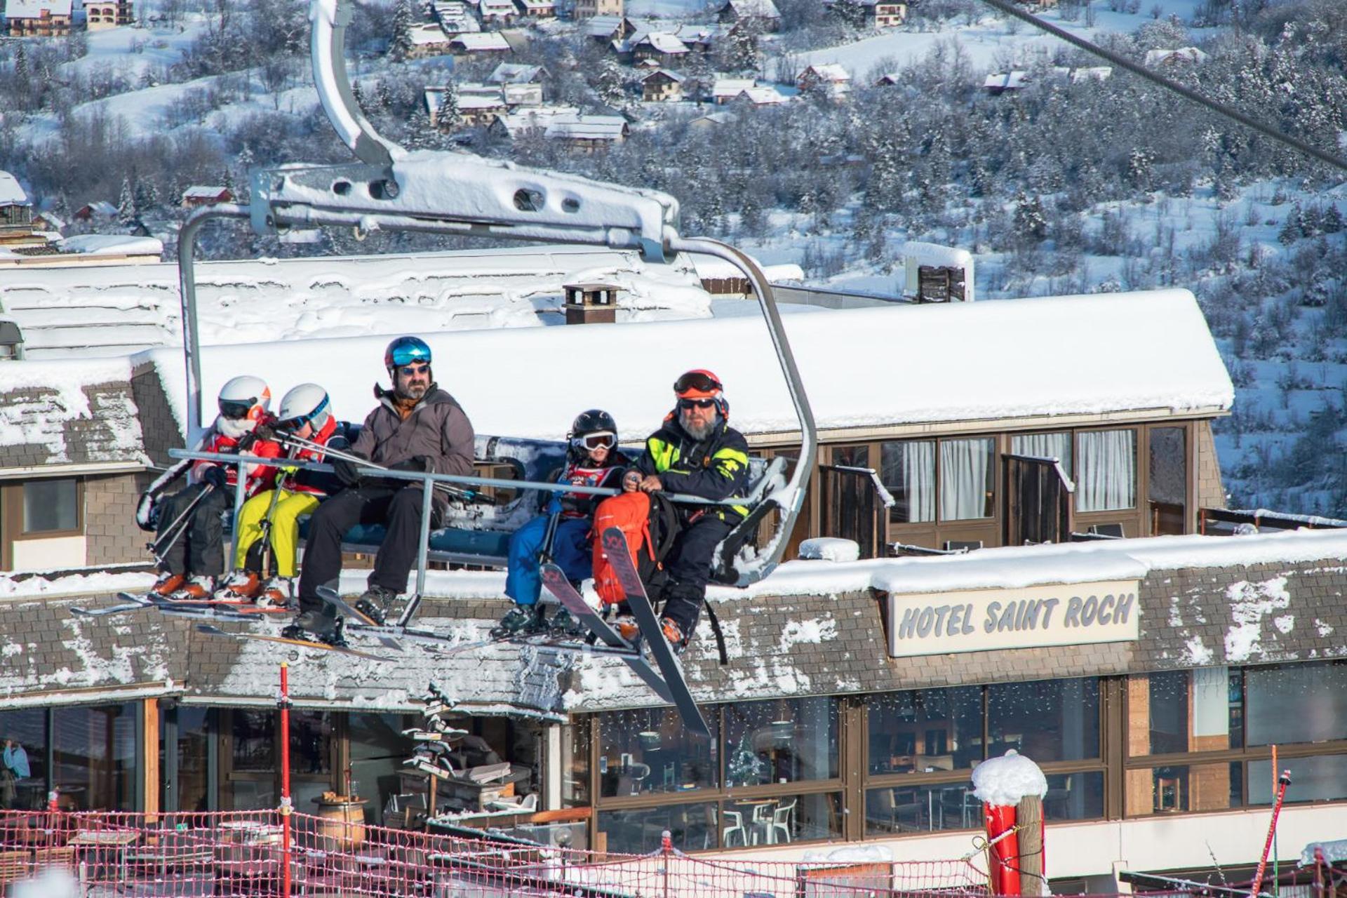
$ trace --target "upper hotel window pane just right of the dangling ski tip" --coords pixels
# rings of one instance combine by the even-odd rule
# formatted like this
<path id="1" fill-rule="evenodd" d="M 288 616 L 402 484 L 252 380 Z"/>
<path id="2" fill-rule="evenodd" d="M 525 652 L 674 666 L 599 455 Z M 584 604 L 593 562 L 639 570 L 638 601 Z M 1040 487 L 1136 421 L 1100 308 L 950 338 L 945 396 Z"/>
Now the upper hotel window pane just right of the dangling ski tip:
<path id="1" fill-rule="evenodd" d="M 831 699 L 783 699 L 725 707 L 725 785 L 834 780 L 838 714 Z"/>

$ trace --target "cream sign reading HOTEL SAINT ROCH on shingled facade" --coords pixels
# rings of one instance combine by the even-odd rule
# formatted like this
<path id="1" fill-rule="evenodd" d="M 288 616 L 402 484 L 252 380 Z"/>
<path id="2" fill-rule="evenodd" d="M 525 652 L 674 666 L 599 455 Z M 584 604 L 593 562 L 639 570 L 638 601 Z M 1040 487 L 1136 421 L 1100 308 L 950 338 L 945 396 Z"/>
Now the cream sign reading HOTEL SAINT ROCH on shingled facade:
<path id="1" fill-rule="evenodd" d="M 889 594 L 889 656 L 1127 642 L 1138 580 Z"/>

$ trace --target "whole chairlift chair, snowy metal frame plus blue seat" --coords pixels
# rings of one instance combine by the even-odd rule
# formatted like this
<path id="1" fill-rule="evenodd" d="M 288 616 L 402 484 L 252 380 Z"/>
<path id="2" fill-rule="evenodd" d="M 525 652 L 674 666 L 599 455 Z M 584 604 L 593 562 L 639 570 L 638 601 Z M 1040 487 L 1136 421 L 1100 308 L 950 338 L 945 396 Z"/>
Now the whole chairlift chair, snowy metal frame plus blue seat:
<path id="1" fill-rule="evenodd" d="M 310 55 L 314 82 L 327 118 L 357 162 L 339 166 L 284 164 L 252 174 L 248 206 L 220 203 L 197 209 L 179 234 L 179 281 L 183 314 L 183 350 L 187 369 L 187 432 L 199 431 L 201 341 L 198 334 L 193 252 L 201 228 L 210 221 L 248 219 L 257 233 L 282 234 L 295 228 L 352 228 L 356 234 L 400 230 L 435 234 L 496 237 L 536 242 L 564 242 L 636 249 L 647 261 L 669 263 L 678 253 L 702 253 L 725 260 L 744 272 L 766 320 L 768 333 L 800 424 L 799 463 L 787 479 L 784 459 L 752 463 L 748 518 L 717 552 L 714 578 L 748 586 L 766 576 L 780 561 L 804 501 L 816 432 L 804 385 L 777 314 L 770 285 L 745 253 L 709 238 L 678 233 L 679 205 L 672 197 L 621 187 L 463 152 L 408 152 L 381 137 L 361 113 L 350 90 L 345 63 L 345 34 L 350 3 L 311 0 Z M 564 446 L 506 436 L 478 436 L 480 460 L 512 463 L 527 479 L 524 490 L 551 489 L 540 483 L 543 462 L 559 459 Z M 458 483 L 490 483 L 490 478 L 458 478 Z M 527 494 L 525 494 L 527 495 Z M 428 560 L 496 567 L 504 563 L 508 533 L 536 508 L 519 495 L 502 506 L 484 508 L 451 502 L 449 526 L 430 533 L 430 490 L 423 508 L 422 553 L 416 596 L 424 592 Z M 241 501 L 241 491 L 238 493 Z M 529 497 L 536 499 L 536 495 Z M 749 544 L 758 525 L 780 512 L 772 537 L 758 551 Z M 529 510 L 529 513 L 532 513 Z M 237 516 L 236 516 L 237 517 Z M 381 537 L 373 529 L 346 534 L 349 548 L 369 551 Z M 403 615 L 409 619 L 415 602 Z"/>

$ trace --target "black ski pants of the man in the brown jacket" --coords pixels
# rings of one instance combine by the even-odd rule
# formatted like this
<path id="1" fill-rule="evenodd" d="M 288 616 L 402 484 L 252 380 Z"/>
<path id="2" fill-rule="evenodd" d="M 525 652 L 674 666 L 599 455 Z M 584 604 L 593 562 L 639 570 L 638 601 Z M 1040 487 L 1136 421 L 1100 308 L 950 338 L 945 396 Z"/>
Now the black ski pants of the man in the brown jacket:
<path id="1" fill-rule="evenodd" d="M 318 587 L 335 588 L 341 574 L 341 540 L 357 524 L 388 528 L 374 556 L 369 586 L 405 592 L 407 575 L 420 549 L 420 509 L 422 487 L 380 483 L 348 487 L 322 502 L 308 518 L 304 563 L 299 571 L 299 606 L 321 607 Z M 438 526 L 440 518 L 440 510 L 431 506 L 431 526 Z"/>

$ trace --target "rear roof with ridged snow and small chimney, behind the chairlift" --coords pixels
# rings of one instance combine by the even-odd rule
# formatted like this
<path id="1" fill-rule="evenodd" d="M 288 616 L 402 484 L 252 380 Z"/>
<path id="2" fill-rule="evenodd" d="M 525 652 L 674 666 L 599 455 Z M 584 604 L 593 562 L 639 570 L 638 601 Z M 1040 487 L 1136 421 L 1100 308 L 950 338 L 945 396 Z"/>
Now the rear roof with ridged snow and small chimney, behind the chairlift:
<path id="1" fill-rule="evenodd" d="M 585 246 L 202 261 L 197 307 L 207 345 L 527 327 L 559 322 L 562 285 L 575 280 L 620 284 L 624 318 L 710 315 L 691 263 Z M 13 271 L 0 276 L 0 308 L 23 329 L 28 358 L 182 345 L 172 264 Z"/>

